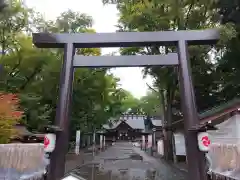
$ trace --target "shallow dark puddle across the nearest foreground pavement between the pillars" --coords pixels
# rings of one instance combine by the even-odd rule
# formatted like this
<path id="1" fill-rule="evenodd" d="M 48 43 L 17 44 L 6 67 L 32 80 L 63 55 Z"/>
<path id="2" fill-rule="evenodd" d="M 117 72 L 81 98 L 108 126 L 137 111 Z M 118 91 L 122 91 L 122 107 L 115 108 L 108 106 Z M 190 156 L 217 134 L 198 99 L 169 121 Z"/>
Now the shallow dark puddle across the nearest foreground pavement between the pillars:
<path id="1" fill-rule="evenodd" d="M 72 171 L 86 180 L 158 180 L 154 169 L 105 169 L 102 164 L 88 164 Z"/>

